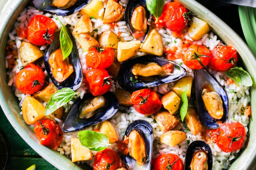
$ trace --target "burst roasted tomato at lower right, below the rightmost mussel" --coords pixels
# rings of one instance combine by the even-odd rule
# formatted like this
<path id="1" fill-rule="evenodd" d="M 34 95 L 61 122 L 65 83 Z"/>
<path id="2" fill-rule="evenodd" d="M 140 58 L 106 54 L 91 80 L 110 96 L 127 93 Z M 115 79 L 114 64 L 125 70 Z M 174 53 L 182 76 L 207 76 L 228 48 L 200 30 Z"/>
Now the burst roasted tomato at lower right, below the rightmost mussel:
<path id="1" fill-rule="evenodd" d="M 245 128 L 239 123 L 221 124 L 215 129 L 216 143 L 223 152 L 232 152 L 241 149 L 245 138 Z"/>

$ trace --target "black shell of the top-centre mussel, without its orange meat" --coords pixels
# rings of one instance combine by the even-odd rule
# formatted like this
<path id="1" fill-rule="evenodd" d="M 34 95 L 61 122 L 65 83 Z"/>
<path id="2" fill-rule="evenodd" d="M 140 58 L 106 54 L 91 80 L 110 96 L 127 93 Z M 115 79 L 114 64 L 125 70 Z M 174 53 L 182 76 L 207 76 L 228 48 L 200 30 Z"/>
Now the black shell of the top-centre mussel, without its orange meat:
<path id="1" fill-rule="evenodd" d="M 135 29 L 133 28 L 132 24 L 131 24 L 131 17 L 133 15 L 133 11 L 135 10 L 135 8 L 137 8 L 138 6 L 143 6 L 146 10 L 146 18 L 147 18 L 147 32 L 145 34 L 144 37 L 141 37 L 140 41 L 144 42 L 146 40 L 146 37 L 148 35 L 148 31 L 150 28 L 150 22 L 151 22 L 151 13 L 148 11 L 147 5 L 146 5 L 146 0 L 129 0 L 126 8 L 125 8 L 125 14 L 124 14 L 124 19 L 125 19 L 125 23 L 128 26 L 129 31 L 133 34 L 135 33 Z"/>

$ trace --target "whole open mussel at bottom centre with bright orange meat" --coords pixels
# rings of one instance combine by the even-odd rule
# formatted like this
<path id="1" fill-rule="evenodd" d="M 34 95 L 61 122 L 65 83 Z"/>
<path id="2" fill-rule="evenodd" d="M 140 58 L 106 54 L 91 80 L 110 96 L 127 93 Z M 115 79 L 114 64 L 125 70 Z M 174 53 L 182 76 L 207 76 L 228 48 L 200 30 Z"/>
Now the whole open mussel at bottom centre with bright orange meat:
<path id="1" fill-rule="evenodd" d="M 129 170 L 150 170 L 153 146 L 153 128 L 145 120 L 135 120 L 125 131 L 128 137 L 128 154 L 123 161 Z"/>

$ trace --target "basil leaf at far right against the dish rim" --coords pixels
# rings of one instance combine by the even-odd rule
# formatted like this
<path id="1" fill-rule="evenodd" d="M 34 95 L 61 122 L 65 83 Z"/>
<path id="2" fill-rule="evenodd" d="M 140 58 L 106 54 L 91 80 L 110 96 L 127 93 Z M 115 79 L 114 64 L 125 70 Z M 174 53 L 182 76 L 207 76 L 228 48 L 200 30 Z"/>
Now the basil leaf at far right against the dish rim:
<path id="1" fill-rule="evenodd" d="M 225 74 L 243 86 L 252 86 L 252 79 L 247 71 L 244 71 L 242 67 L 233 67 L 230 70 L 225 71 Z"/>

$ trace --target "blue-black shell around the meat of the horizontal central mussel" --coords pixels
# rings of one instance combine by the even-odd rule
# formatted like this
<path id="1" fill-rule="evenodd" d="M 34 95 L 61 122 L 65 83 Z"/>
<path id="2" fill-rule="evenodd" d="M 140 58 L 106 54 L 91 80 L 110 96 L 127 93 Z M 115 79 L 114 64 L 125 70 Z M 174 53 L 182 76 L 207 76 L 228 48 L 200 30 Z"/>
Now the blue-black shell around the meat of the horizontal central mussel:
<path id="1" fill-rule="evenodd" d="M 134 83 L 134 81 L 132 80 L 135 80 L 135 76 L 131 73 L 131 68 L 136 63 L 146 63 L 146 62 L 155 62 L 161 67 L 165 64 L 172 63 L 174 65 L 175 74 L 161 76 L 159 78 L 154 77 L 154 80 L 152 81 L 141 80 L 139 82 Z M 174 82 L 184 77 L 186 74 L 187 74 L 187 71 L 183 67 L 181 67 L 179 64 L 171 60 L 168 60 L 163 57 L 154 56 L 154 55 L 145 55 L 145 56 L 141 56 L 141 57 L 129 60 L 126 63 L 124 63 L 119 70 L 117 78 L 118 78 L 118 84 L 121 86 L 122 89 L 129 92 L 135 92 L 137 90 L 141 90 L 144 88 L 152 88 L 162 84 Z"/>

